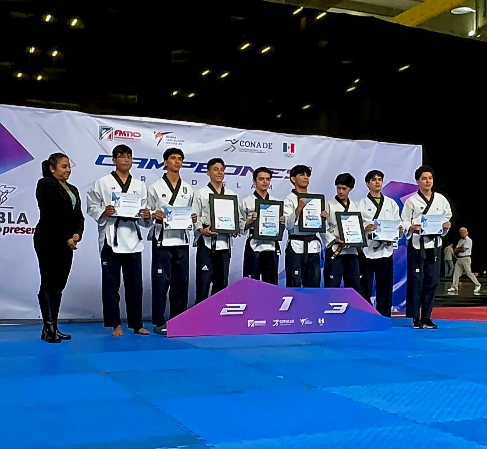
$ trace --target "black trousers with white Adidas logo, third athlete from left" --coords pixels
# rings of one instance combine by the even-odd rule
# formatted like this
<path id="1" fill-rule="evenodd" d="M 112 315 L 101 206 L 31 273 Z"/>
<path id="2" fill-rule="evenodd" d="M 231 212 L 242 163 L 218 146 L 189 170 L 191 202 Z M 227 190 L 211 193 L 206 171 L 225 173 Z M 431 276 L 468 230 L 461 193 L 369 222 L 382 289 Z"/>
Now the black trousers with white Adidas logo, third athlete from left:
<path id="1" fill-rule="evenodd" d="M 196 304 L 204 301 L 228 286 L 230 251 L 218 250 L 214 253 L 206 247 L 203 237 L 198 239 L 196 250 Z"/>

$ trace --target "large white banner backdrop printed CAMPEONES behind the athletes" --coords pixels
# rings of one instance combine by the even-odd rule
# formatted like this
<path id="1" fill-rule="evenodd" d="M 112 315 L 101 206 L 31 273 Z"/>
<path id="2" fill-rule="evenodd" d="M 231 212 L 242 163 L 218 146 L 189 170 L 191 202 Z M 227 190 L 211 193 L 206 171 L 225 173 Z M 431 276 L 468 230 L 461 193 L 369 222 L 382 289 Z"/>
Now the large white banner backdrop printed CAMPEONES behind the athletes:
<path id="1" fill-rule="evenodd" d="M 137 117 L 94 116 L 79 112 L 0 105 L 0 319 L 39 317 L 37 292 L 39 272 L 32 232 L 37 224 L 35 199 L 40 164 L 49 154 L 70 157 L 72 175 L 86 210 L 86 192 L 94 181 L 112 171 L 112 148 L 125 143 L 133 150 L 132 176 L 150 185 L 162 176 L 162 154 L 169 147 L 181 148 L 185 161 L 181 176 L 195 190 L 209 178 L 206 162 L 225 160 L 225 184 L 239 198 L 250 195 L 253 169 L 273 170 L 272 195 L 284 198 L 290 192 L 288 170 L 296 164 L 313 168 L 310 193 L 336 195 L 338 173 L 356 178 L 351 197 L 367 194 L 365 174 L 372 169 L 389 181 L 411 183 L 421 165 L 419 145 L 352 141 L 322 136 L 297 136 L 249 131 L 172 120 Z M 147 231 L 144 237 L 147 236 Z M 230 283 L 242 277 L 245 238 L 234 240 Z M 286 236 L 281 243 L 284 248 Z M 73 268 L 64 290 L 61 318 L 100 318 L 101 268 L 96 223 L 86 215 L 83 239 L 74 254 Z M 56 254 L 53 254 L 56 257 Z M 150 244 L 143 253 L 144 316 L 150 316 Z M 280 272 L 284 270 L 281 257 Z M 195 249 L 190 254 L 189 304 L 194 303 Z M 283 273 L 280 274 L 281 282 Z M 129 281 L 127 279 L 125 281 Z M 123 294 L 123 292 L 122 292 Z M 123 296 L 122 296 L 123 298 Z M 123 304 L 123 299 L 121 303 Z M 122 306 L 125 316 L 125 306 Z"/>

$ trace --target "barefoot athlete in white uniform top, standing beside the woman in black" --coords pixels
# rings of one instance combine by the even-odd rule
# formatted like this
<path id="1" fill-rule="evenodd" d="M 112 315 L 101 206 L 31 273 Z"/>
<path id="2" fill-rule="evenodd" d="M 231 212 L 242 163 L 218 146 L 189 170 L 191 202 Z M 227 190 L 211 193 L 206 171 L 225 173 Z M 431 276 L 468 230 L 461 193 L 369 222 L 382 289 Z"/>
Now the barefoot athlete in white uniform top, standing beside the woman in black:
<path id="1" fill-rule="evenodd" d="M 127 145 L 113 148 L 115 171 L 94 183 L 87 194 L 87 212 L 98 224 L 98 248 L 101 256 L 103 321 L 113 327 L 112 335 L 122 335 L 120 323 L 120 270 L 123 272 L 127 325 L 134 333 L 148 335 L 142 323 L 142 234 L 140 226 L 152 225 L 147 209 L 147 188 L 133 179 L 132 150 Z M 120 192 L 138 195 L 142 208 L 139 217 L 117 217 L 114 204 Z"/>

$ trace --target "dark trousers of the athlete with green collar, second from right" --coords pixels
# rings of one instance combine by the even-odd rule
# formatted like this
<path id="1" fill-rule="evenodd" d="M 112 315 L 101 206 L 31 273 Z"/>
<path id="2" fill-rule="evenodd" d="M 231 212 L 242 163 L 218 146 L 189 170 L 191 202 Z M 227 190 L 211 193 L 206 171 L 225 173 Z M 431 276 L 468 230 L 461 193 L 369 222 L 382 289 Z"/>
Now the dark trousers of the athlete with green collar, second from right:
<path id="1" fill-rule="evenodd" d="M 377 311 L 384 316 L 391 316 L 393 305 L 393 256 L 368 259 L 364 257 L 362 262 L 362 291 L 364 298 L 371 302 L 372 287 L 375 276 L 375 302 Z"/>

